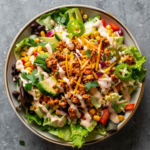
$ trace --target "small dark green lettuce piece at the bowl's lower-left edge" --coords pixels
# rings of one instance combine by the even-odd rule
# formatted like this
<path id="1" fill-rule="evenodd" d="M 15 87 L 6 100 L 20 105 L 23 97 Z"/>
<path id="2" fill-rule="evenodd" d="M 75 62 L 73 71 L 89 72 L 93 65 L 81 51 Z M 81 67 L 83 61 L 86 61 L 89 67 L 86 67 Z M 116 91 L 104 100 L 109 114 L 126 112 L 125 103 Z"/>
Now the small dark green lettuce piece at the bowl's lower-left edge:
<path id="1" fill-rule="evenodd" d="M 33 121 L 35 121 L 40 126 L 43 123 L 43 119 L 40 119 L 37 115 L 25 114 L 25 117 L 28 119 L 29 123 L 32 123 Z"/>

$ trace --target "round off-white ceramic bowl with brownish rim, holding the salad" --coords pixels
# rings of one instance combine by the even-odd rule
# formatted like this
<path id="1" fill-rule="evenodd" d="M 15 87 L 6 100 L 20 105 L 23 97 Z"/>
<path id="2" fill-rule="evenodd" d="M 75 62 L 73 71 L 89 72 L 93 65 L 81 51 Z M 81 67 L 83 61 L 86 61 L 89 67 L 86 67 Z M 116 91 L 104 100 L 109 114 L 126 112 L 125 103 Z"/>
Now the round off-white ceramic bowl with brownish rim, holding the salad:
<path id="1" fill-rule="evenodd" d="M 30 33 L 31 33 L 30 24 L 33 21 L 35 21 L 41 15 L 43 15 L 45 13 L 49 13 L 54 10 L 58 10 L 61 7 L 78 7 L 79 9 L 82 9 L 84 11 L 84 13 L 88 14 L 89 17 L 100 15 L 101 18 L 105 18 L 106 23 L 109 23 L 109 22 L 115 23 L 116 25 L 118 25 L 119 27 L 121 27 L 123 29 L 124 36 L 125 36 L 125 43 L 128 46 L 136 46 L 136 48 L 139 51 L 140 51 L 140 49 L 139 49 L 139 46 L 138 46 L 137 42 L 135 41 L 133 35 L 131 34 L 131 32 L 127 29 L 127 27 L 119 19 L 117 19 L 115 16 L 113 16 L 112 14 L 110 14 L 102 9 L 92 7 L 92 6 L 86 6 L 86 5 L 66 5 L 66 6 L 59 6 L 59 7 L 49 9 L 49 10 L 37 15 L 32 20 L 30 20 L 21 29 L 21 31 L 17 34 L 17 36 L 15 37 L 15 39 L 12 42 L 10 49 L 8 51 L 6 62 L 5 62 L 5 69 L 4 69 L 5 88 L 6 88 L 6 93 L 7 93 L 9 102 L 10 102 L 14 112 L 16 113 L 18 118 L 21 120 L 21 122 L 33 133 L 35 133 L 39 137 L 41 137 L 49 142 L 53 142 L 53 143 L 56 143 L 59 145 L 71 146 L 72 145 L 71 142 L 65 142 L 62 139 L 57 138 L 57 137 L 53 136 L 52 134 L 48 133 L 47 131 L 46 132 L 41 131 L 40 128 L 36 124 L 29 124 L 28 121 L 26 120 L 26 118 L 24 117 L 24 111 L 16 109 L 16 107 L 18 106 L 18 102 L 14 97 L 12 97 L 12 94 L 11 94 L 14 91 L 14 89 L 16 89 L 16 85 L 12 81 L 12 76 L 11 76 L 11 66 L 12 66 L 12 64 L 15 63 L 15 56 L 13 54 L 15 45 L 17 43 L 19 43 L 25 37 L 28 37 L 30 35 Z M 126 121 L 123 121 L 118 125 L 117 131 L 119 131 L 121 128 L 123 128 L 125 126 L 125 124 L 131 119 L 134 112 L 136 111 L 136 109 L 141 101 L 141 98 L 142 98 L 142 94 L 144 91 L 144 85 L 145 85 L 145 82 L 143 81 L 142 87 L 137 88 L 137 90 L 132 93 L 131 103 L 135 103 L 135 109 L 132 112 L 127 112 L 125 114 Z M 107 139 L 108 137 L 112 136 L 116 132 L 108 133 L 106 136 L 100 136 L 95 133 L 89 133 L 89 136 L 86 138 L 86 143 L 84 145 L 97 143 L 99 141 Z"/>

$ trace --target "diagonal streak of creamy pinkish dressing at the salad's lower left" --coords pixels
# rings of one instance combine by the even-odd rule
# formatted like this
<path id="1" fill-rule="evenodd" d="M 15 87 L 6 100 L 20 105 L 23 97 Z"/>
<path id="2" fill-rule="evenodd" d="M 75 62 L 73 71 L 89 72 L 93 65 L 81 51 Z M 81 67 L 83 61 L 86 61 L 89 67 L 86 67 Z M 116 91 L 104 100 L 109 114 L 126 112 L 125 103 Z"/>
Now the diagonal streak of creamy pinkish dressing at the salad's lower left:
<path id="1" fill-rule="evenodd" d="M 59 127 L 63 127 L 63 126 L 64 126 L 63 118 L 59 118 L 59 117 L 56 116 L 56 115 L 53 116 L 53 115 L 47 110 L 47 108 L 46 108 L 45 106 L 41 105 L 41 104 L 39 104 L 39 107 L 41 108 L 41 110 L 42 110 L 44 113 L 46 113 L 46 116 L 51 119 L 51 122 L 57 121 L 57 125 L 58 125 Z"/>

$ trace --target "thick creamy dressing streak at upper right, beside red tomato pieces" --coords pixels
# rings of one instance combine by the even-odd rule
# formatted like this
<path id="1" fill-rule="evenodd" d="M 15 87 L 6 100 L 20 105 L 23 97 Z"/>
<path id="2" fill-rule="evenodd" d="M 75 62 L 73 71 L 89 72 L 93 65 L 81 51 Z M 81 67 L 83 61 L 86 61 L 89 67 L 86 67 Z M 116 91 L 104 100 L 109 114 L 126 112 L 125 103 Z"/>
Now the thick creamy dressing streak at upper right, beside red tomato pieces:
<path id="1" fill-rule="evenodd" d="M 97 20 L 97 22 L 95 22 L 92 27 L 98 28 L 99 34 L 100 34 L 101 36 L 107 37 L 109 43 L 112 45 L 113 42 L 114 42 L 114 38 L 113 38 L 113 37 L 110 37 L 110 36 L 108 35 L 107 30 L 104 28 L 103 23 L 102 23 L 101 20 L 99 20 L 98 18 L 94 18 L 94 19 Z"/>

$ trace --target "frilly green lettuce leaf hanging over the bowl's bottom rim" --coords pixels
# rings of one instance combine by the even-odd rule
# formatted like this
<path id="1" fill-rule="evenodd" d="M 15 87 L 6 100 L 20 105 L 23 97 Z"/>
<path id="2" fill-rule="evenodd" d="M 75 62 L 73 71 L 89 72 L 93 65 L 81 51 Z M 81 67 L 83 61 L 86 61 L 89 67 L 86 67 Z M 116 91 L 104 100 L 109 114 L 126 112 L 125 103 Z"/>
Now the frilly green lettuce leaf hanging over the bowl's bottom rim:
<path id="1" fill-rule="evenodd" d="M 85 137 L 88 135 L 88 131 L 80 124 L 73 124 L 70 126 L 72 132 L 73 146 L 82 147 L 85 143 Z"/>

